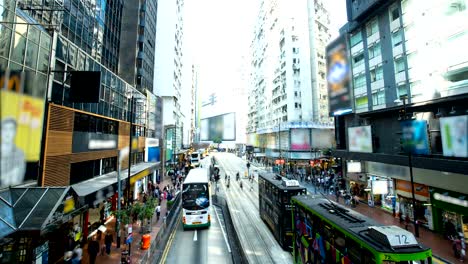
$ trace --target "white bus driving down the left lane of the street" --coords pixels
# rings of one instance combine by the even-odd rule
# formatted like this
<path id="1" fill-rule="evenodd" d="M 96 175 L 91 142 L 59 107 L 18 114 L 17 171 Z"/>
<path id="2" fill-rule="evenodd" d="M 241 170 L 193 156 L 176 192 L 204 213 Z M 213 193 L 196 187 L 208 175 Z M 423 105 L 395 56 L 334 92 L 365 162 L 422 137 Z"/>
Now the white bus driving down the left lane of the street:
<path id="1" fill-rule="evenodd" d="M 210 199 L 208 168 L 191 169 L 182 184 L 184 230 L 210 226 Z"/>

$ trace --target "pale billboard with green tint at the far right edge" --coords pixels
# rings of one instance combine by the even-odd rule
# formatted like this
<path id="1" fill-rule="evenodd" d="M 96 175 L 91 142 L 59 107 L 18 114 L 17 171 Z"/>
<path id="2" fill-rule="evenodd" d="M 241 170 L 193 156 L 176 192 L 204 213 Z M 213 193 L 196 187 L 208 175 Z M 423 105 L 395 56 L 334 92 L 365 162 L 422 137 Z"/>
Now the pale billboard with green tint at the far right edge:
<path id="1" fill-rule="evenodd" d="M 468 157 L 468 115 L 440 118 L 444 156 Z"/>

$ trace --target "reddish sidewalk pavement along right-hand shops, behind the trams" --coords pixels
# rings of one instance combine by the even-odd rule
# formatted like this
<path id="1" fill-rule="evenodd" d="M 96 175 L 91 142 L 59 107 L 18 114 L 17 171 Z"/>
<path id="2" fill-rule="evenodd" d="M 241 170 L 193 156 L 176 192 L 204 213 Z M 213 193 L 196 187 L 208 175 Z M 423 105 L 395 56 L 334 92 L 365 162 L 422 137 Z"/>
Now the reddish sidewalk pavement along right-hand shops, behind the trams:
<path id="1" fill-rule="evenodd" d="M 258 165 L 258 164 L 254 164 Z M 269 169 L 263 166 L 255 166 L 260 170 Z M 307 187 L 310 193 L 313 193 L 315 186 L 311 183 L 300 182 L 302 185 Z M 312 190 L 312 191 L 310 191 Z M 327 198 L 336 201 L 335 195 L 327 195 Z M 340 198 L 340 204 L 345 205 L 344 199 Z M 360 203 L 357 207 L 351 208 L 369 218 L 376 220 L 377 222 L 383 225 L 396 225 L 401 228 L 405 228 L 405 223 L 400 223 L 398 218 L 393 217 L 391 212 L 388 212 L 384 209 L 377 208 L 377 207 L 370 207 L 367 204 Z M 410 225 L 409 227 L 410 232 L 414 232 L 414 225 Z M 457 258 L 454 257 L 453 249 L 452 249 L 452 242 L 450 240 L 445 239 L 441 234 L 435 233 L 425 227 L 419 227 L 419 238 L 417 238 L 419 242 L 422 244 L 430 247 L 432 249 L 432 254 L 438 258 L 434 259 L 434 263 L 456 263 L 460 262 Z"/>

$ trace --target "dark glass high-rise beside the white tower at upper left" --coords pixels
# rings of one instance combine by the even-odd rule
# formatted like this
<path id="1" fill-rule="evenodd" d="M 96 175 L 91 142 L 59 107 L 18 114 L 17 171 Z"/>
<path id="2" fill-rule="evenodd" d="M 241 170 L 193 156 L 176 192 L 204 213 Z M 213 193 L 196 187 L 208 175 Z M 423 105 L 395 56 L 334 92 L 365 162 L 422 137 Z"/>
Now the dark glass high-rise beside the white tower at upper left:
<path id="1" fill-rule="evenodd" d="M 153 92 L 158 1 L 126 1 L 122 11 L 119 75 L 138 90 Z M 137 47 L 137 48 L 135 48 Z"/>

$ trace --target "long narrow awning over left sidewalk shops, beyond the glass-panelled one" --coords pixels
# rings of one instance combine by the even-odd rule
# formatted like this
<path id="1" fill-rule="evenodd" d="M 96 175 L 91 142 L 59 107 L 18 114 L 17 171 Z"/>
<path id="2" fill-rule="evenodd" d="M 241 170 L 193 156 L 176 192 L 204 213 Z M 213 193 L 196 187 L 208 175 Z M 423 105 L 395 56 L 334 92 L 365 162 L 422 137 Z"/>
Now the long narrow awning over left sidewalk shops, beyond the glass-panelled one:
<path id="1" fill-rule="evenodd" d="M 160 162 L 142 162 L 133 165 L 130 170 L 130 184 L 143 178 L 154 171 L 160 165 Z M 122 190 L 127 185 L 128 169 L 120 173 Z M 78 194 L 80 202 L 88 204 L 90 207 L 97 207 L 99 203 L 114 195 L 117 192 L 117 172 L 111 172 L 99 177 L 89 179 L 71 186 Z"/>

